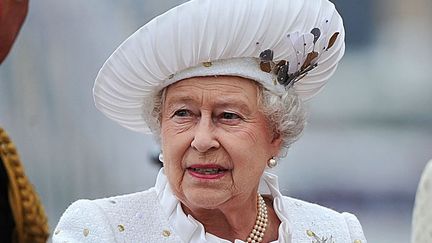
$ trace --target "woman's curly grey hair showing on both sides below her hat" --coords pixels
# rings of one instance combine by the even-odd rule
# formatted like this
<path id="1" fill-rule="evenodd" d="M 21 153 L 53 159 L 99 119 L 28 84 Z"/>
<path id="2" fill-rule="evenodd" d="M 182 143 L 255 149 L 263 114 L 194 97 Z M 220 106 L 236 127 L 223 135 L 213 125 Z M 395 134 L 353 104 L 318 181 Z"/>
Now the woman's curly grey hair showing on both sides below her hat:
<path id="1" fill-rule="evenodd" d="M 257 84 L 260 109 L 270 123 L 273 133 L 281 136 L 282 147 L 277 157 L 283 158 L 287 155 L 289 147 L 300 138 L 306 126 L 304 103 L 293 89 L 289 89 L 283 95 L 275 95 L 261 84 Z M 162 107 L 166 90 L 167 87 L 154 95 L 153 105 L 150 106 L 153 110 L 149 111 L 151 116 L 147 116 L 151 118 L 146 120 L 158 143 L 161 141 Z"/>

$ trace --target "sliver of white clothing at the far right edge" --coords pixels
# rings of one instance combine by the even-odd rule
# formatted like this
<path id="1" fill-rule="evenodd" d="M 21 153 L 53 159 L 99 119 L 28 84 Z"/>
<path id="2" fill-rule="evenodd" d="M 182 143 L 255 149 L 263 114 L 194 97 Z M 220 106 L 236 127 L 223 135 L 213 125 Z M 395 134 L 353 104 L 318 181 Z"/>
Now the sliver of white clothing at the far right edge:
<path id="1" fill-rule="evenodd" d="M 414 204 L 411 243 L 432 242 L 432 160 L 420 179 Z"/>

